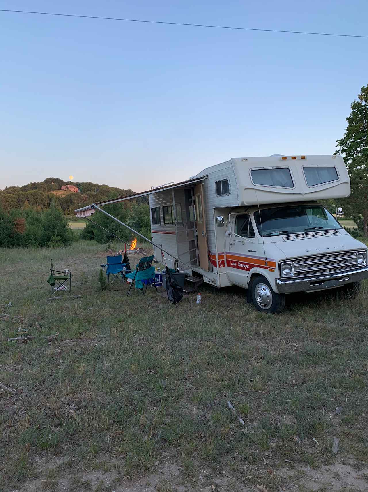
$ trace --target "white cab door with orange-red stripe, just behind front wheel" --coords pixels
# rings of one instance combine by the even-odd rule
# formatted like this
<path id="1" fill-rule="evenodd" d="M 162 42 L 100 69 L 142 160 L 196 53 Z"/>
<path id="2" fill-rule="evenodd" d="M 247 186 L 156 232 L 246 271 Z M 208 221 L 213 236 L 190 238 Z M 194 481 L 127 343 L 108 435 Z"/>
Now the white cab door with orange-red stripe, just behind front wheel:
<path id="1" fill-rule="evenodd" d="M 227 235 L 225 241 L 227 276 L 231 283 L 246 287 L 249 270 L 253 267 L 252 257 L 258 250 L 250 216 L 234 214 L 230 227 L 231 235 Z"/>

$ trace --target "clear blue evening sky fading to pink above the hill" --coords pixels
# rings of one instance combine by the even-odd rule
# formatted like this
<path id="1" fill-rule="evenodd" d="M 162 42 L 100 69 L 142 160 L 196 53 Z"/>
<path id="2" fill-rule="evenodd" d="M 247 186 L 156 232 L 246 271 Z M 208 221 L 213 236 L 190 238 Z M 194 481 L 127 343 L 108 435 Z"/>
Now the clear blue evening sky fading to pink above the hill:
<path id="1" fill-rule="evenodd" d="M 0 0 L 0 8 L 367 35 L 366 0 Z M 134 191 L 271 154 L 333 154 L 368 39 L 0 12 L 0 189 Z"/>

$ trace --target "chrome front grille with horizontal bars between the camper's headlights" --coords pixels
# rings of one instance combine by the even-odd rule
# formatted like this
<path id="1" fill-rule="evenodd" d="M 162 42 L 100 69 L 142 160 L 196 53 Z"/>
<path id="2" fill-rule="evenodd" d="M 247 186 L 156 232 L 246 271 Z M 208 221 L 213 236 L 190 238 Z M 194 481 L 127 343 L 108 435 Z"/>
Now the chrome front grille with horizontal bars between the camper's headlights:
<path id="1" fill-rule="evenodd" d="M 305 256 L 291 260 L 294 263 L 294 277 L 311 277 L 347 272 L 365 268 L 357 266 L 357 254 L 365 251 L 342 251 L 315 256 Z"/>

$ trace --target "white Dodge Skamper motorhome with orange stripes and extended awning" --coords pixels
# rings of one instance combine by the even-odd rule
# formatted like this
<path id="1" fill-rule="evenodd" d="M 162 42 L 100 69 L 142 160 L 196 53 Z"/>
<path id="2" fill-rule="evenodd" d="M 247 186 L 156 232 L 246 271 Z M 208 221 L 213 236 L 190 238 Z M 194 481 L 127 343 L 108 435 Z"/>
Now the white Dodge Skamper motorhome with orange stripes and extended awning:
<path id="1" fill-rule="evenodd" d="M 258 310 L 276 313 L 290 293 L 359 292 L 367 246 L 318 203 L 349 194 L 341 155 L 240 157 L 76 212 L 148 195 L 159 262 L 215 288 L 243 287 Z"/>

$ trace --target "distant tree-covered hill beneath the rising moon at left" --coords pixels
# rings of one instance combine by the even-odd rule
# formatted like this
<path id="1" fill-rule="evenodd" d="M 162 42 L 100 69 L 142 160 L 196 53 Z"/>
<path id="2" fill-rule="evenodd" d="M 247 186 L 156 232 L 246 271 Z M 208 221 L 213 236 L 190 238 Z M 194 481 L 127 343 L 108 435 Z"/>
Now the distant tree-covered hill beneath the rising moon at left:
<path id="1" fill-rule="evenodd" d="M 73 184 L 80 190 L 60 191 L 61 186 Z M 54 203 L 60 207 L 64 215 L 74 215 L 74 210 L 89 203 L 101 202 L 109 198 L 126 196 L 134 193 L 131 189 L 122 189 L 107 184 L 90 182 L 63 181 L 60 178 L 46 178 L 40 183 L 28 183 L 24 186 L 8 186 L 0 190 L 0 208 L 6 212 L 12 209 L 26 209 L 29 207 L 37 210 L 47 210 Z M 145 202 L 145 199 L 137 199 L 136 202 Z"/>

